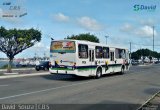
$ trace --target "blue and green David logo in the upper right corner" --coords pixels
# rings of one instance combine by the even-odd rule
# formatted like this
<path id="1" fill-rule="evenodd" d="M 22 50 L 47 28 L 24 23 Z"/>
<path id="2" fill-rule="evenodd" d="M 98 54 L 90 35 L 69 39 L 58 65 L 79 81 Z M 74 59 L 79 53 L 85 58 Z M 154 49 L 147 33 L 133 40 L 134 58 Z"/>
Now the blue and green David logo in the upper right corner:
<path id="1" fill-rule="evenodd" d="M 153 12 L 156 10 L 156 5 L 134 5 L 133 6 L 134 11 L 149 11 Z"/>

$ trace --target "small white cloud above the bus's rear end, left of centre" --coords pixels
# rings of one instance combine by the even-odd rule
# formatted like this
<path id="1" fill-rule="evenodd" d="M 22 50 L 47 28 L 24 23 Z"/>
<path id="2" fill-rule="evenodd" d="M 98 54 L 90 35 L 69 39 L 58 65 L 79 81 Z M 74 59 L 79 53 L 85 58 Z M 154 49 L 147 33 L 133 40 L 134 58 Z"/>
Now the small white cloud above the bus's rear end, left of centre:
<path id="1" fill-rule="evenodd" d="M 64 15 L 63 13 L 55 14 L 53 17 L 56 21 L 60 21 L 60 22 L 68 22 L 69 21 L 69 17 Z"/>

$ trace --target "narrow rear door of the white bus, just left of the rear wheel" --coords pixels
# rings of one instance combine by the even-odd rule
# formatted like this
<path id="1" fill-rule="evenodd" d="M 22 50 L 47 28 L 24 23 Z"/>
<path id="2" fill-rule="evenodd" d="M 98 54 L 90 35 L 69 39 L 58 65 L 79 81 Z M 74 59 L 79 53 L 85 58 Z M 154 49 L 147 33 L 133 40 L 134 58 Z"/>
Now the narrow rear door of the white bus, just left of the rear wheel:
<path id="1" fill-rule="evenodd" d="M 89 49 L 89 65 L 91 66 L 90 67 L 90 73 L 91 74 L 94 74 L 93 73 L 93 69 L 94 69 L 94 55 L 95 53 L 94 53 L 94 49 Z"/>

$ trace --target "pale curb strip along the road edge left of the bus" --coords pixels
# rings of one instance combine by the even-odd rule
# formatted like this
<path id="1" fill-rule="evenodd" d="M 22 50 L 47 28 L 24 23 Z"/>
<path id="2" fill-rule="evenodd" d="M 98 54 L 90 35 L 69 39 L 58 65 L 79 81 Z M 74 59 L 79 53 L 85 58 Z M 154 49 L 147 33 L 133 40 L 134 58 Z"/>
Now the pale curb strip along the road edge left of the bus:
<path id="1" fill-rule="evenodd" d="M 39 75 L 49 75 L 49 72 L 44 73 L 31 73 L 31 74 L 19 74 L 19 75 L 6 75 L 0 76 L 0 79 L 8 79 L 8 78 L 18 78 L 18 77 L 25 77 L 25 76 L 39 76 Z"/>

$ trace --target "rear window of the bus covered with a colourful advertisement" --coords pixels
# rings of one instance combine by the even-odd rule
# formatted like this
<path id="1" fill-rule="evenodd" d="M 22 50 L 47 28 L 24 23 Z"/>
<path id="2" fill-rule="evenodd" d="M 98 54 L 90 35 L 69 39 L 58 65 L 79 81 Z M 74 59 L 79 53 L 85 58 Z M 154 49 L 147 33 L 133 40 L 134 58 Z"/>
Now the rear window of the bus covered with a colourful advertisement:
<path id="1" fill-rule="evenodd" d="M 50 51 L 53 53 L 75 53 L 76 47 L 74 41 L 53 41 Z"/>

